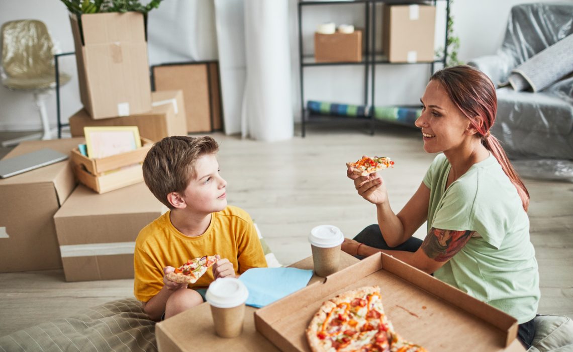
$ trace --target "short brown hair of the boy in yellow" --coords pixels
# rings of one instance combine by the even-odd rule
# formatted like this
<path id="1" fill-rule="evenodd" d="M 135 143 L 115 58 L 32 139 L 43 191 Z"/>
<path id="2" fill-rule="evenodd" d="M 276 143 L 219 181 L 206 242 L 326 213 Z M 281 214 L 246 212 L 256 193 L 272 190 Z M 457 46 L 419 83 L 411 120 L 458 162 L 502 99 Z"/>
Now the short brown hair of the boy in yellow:
<path id="1" fill-rule="evenodd" d="M 171 192 L 183 192 L 196 177 L 195 162 L 205 154 L 219 150 L 217 141 L 209 136 L 171 136 L 155 143 L 143 161 L 143 179 L 151 193 L 165 204 Z"/>

